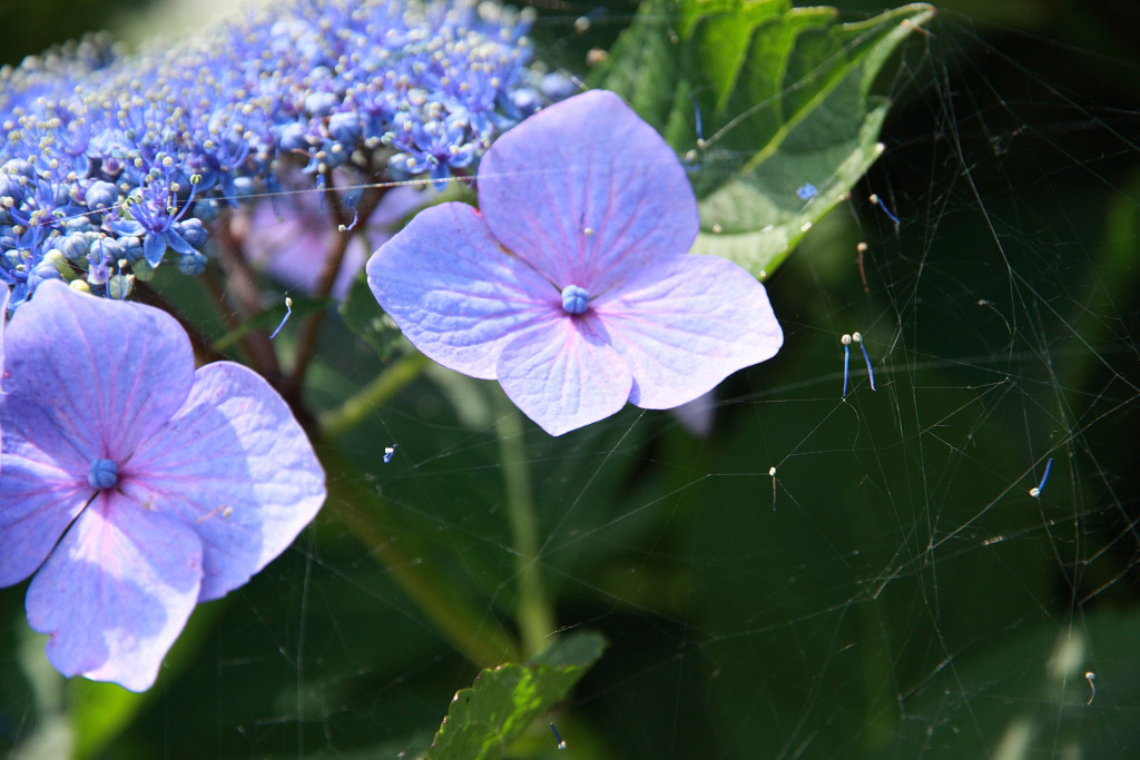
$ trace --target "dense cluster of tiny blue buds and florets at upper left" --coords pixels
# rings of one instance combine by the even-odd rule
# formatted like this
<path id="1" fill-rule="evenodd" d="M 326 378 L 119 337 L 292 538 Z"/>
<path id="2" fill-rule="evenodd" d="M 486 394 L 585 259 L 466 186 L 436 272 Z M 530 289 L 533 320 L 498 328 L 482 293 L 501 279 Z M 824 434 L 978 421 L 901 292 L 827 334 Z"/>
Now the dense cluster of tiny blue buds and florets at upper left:
<path id="1" fill-rule="evenodd" d="M 287 0 L 133 56 L 91 39 L 0 70 L 11 307 L 44 280 L 123 297 L 166 256 L 199 273 L 219 212 L 298 171 L 310 189 L 467 171 L 544 100 L 528 24 L 472 0 Z"/>

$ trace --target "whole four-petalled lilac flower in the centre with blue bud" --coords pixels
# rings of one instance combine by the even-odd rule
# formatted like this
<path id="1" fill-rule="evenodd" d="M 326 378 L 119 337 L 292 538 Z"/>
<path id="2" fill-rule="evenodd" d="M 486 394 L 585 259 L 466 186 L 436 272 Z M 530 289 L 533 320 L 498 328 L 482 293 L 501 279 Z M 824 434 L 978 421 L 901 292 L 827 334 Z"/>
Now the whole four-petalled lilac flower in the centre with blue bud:
<path id="1" fill-rule="evenodd" d="M 616 95 L 526 120 L 478 180 L 480 211 L 421 212 L 368 261 L 368 284 L 424 354 L 497 379 L 552 435 L 626 401 L 677 407 L 780 349 L 764 286 L 687 253 L 685 171 Z"/>

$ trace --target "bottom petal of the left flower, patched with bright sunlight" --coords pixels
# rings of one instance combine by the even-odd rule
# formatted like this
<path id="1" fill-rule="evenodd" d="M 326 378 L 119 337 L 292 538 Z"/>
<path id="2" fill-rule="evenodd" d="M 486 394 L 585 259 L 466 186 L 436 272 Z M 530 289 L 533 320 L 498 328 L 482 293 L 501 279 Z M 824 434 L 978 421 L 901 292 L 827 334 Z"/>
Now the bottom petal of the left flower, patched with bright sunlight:
<path id="1" fill-rule="evenodd" d="M 202 547 L 180 521 L 103 491 L 27 589 L 27 622 L 50 634 L 64 676 L 142 692 L 198 598 Z"/>

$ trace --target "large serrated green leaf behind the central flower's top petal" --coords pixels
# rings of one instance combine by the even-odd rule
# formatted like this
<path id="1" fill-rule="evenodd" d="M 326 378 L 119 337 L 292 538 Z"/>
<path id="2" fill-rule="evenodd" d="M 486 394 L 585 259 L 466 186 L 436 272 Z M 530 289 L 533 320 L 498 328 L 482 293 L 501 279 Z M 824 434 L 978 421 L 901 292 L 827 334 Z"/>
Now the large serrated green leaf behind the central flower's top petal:
<path id="1" fill-rule="evenodd" d="M 874 83 L 933 15 L 914 3 L 839 24 L 834 8 L 788 0 L 649 0 L 593 82 L 626 97 L 693 167 L 693 252 L 763 279 L 881 154 L 890 104 Z M 651 65 L 660 73 L 637 79 Z M 800 198 L 807 185 L 816 193 Z"/>

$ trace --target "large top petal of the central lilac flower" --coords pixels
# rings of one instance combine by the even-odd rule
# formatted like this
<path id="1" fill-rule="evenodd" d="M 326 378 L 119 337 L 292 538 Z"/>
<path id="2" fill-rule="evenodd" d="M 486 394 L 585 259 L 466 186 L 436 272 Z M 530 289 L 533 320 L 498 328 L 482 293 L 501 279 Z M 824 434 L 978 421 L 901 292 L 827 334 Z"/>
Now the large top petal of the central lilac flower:
<path id="1" fill-rule="evenodd" d="M 686 253 L 697 201 L 676 154 L 612 92 L 539 112 L 491 146 L 479 206 L 495 237 L 559 287 Z M 589 234 L 587 234 L 587 228 Z"/>

